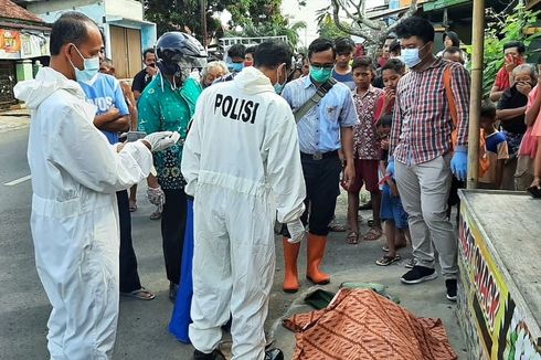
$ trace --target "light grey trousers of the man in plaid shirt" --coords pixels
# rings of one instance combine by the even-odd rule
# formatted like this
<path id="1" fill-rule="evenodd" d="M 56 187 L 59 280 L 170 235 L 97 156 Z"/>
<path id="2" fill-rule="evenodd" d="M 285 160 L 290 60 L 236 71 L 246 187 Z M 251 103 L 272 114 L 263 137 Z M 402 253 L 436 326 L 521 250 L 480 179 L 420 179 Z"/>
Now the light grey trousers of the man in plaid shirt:
<path id="1" fill-rule="evenodd" d="M 417 265 L 434 268 L 434 243 L 445 279 L 458 275 L 458 240 L 446 216 L 452 181 L 449 165 L 449 155 L 412 166 L 395 162 L 396 184 L 410 215 L 413 256 Z"/>

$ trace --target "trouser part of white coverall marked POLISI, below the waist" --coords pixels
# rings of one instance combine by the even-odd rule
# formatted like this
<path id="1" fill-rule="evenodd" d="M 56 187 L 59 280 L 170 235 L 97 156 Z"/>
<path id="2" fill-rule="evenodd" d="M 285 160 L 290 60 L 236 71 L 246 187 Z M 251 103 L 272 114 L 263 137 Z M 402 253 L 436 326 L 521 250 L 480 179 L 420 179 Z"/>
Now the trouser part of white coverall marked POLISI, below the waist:
<path id="1" fill-rule="evenodd" d="M 256 198 L 200 186 L 195 194 L 190 340 L 209 353 L 233 317 L 234 360 L 262 360 L 274 279 L 274 211 Z"/>

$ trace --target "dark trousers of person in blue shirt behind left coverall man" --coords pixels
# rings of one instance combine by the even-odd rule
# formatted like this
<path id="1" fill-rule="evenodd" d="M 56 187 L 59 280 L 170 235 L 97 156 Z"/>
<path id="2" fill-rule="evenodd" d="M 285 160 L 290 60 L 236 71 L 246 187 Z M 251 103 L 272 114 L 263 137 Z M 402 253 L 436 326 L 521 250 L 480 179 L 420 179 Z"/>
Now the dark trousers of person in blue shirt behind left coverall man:
<path id="1" fill-rule="evenodd" d="M 120 292 L 130 293 L 141 288 L 137 273 L 137 257 L 131 240 L 131 214 L 129 213 L 128 191 L 116 193 L 120 222 Z"/>

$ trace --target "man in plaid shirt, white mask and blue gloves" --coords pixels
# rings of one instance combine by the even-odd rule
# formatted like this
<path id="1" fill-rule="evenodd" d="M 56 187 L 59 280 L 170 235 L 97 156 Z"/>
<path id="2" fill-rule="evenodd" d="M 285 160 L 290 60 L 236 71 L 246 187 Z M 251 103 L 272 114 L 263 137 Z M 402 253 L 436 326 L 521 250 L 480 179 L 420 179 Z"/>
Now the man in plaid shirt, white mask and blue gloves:
<path id="1" fill-rule="evenodd" d="M 435 57 L 434 27 L 409 18 L 396 28 L 402 56 L 411 72 L 396 88 L 390 153 L 413 242 L 415 266 L 401 278 L 418 284 L 437 277 L 434 246 L 439 254 L 447 298 L 456 300 L 457 240 L 446 218 L 452 172 L 467 174 L 469 75 L 457 63 Z M 450 72 L 453 94 L 446 94 L 444 72 Z M 457 110 L 458 141 L 452 145 L 448 96 Z"/>

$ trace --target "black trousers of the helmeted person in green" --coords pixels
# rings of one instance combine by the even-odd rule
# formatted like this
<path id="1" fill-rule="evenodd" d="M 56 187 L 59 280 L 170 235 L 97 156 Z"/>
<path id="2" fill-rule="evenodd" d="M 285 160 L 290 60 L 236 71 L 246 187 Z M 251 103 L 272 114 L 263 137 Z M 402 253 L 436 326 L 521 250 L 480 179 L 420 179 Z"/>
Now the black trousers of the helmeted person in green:
<path id="1" fill-rule="evenodd" d="M 161 213 L 161 237 L 163 240 L 163 258 L 167 278 L 174 284 L 180 283 L 180 265 L 187 218 L 187 195 L 184 190 L 167 190 L 166 204 Z"/>

